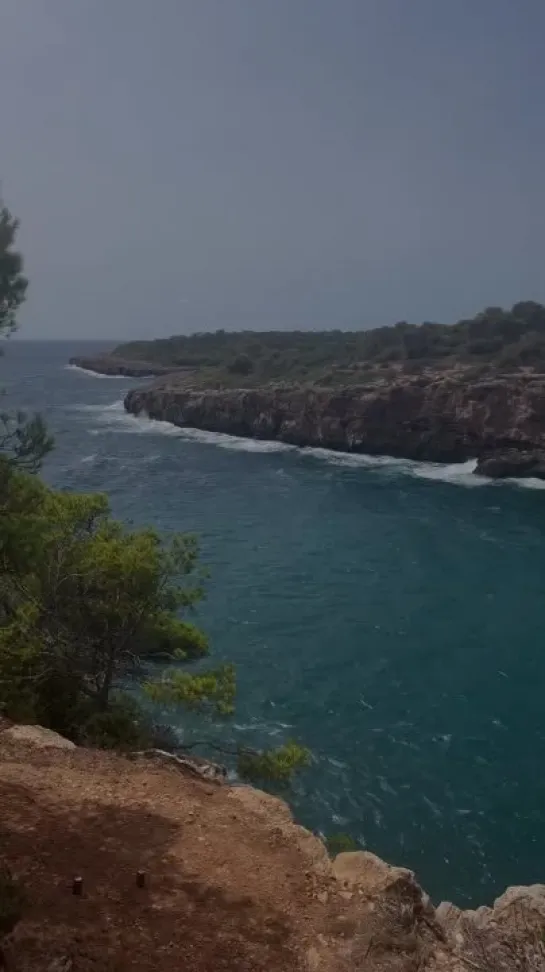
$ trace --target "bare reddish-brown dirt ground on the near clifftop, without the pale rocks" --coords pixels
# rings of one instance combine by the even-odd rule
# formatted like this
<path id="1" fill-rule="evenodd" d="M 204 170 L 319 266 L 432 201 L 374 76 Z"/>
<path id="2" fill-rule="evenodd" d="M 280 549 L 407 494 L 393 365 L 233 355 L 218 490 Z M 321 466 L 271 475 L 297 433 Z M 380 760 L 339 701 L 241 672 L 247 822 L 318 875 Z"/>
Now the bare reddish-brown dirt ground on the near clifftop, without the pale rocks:
<path id="1" fill-rule="evenodd" d="M 18 972 L 65 956 L 77 972 L 308 969 L 320 879 L 275 808 L 153 761 L 0 733 L 0 861 L 28 898 L 7 954 Z"/>

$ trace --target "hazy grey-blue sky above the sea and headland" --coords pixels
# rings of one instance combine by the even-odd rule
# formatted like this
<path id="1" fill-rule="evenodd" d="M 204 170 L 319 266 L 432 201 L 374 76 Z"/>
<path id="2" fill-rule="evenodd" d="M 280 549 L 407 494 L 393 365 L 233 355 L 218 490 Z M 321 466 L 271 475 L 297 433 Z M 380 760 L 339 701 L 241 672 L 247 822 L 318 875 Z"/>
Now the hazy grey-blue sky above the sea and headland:
<path id="1" fill-rule="evenodd" d="M 545 302 L 543 0 L 1 0 L 21 336 Z"/>

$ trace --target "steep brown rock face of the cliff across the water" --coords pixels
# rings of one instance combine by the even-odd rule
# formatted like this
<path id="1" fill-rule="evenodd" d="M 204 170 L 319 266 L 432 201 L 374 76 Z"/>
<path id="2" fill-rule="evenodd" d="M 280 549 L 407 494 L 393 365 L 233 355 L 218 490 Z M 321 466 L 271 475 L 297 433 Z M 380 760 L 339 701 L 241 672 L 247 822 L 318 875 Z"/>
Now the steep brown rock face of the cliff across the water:
<path id="1" fill-rule="evenodd" d="M 477 459 L 493 477 L 545 478 L 545 375 L 463 370 L 365 387 L 198 389 L 179 375 L 133 389 L 135 415 L 211 432 L 431 462 Z"/>

